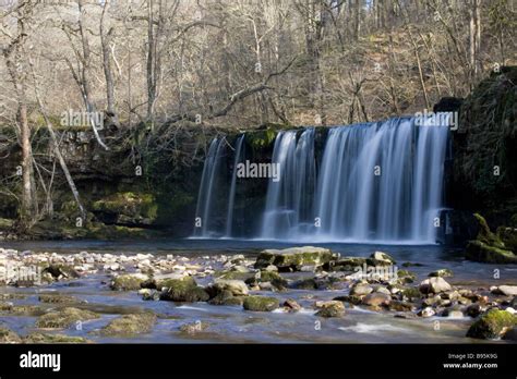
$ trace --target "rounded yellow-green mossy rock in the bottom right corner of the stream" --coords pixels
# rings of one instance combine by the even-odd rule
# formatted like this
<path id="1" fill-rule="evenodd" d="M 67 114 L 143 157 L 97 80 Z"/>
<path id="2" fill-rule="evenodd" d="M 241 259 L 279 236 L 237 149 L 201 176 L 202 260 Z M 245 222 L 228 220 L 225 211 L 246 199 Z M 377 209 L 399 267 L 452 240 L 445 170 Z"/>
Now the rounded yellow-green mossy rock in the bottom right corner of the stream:
<path id="1" fill-rule="evenodd" d="M 500 339 L 516 325 L 517 317 L 509 311 L 490 309 L 470 326 L 467 337 L 483 340 Z"/>

